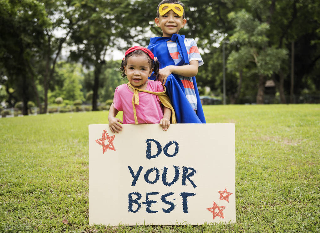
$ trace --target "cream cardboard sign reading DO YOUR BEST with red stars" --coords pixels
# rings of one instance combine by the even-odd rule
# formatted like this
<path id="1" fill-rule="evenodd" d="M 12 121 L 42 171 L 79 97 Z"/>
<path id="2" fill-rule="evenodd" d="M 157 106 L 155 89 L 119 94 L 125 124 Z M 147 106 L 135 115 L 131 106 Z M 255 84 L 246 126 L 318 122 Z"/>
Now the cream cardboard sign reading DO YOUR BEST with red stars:
<path id="1" fill-rule="evenodd" d="M 89 125 L 89 223 L 236 221 L 235 124 Z"/>

